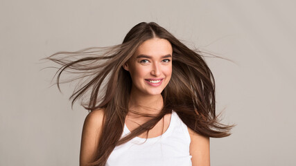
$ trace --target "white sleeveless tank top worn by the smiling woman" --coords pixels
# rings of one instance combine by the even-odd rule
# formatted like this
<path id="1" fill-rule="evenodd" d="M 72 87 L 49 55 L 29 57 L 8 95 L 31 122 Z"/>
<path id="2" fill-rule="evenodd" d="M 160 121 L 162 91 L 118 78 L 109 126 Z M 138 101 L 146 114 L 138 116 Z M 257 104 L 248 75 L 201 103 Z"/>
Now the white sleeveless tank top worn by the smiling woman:
<path id="1" fill-rule="evenodd" d="M 130 133 L 124 124 L 121 138 Z M 171 122 L 162 136 L 155 138 L 135 137 L 123 145 L 116 146 L 107 166 L 191 166 L 189 154 L 190 136 L 186 124 L 172 111 Z"/>

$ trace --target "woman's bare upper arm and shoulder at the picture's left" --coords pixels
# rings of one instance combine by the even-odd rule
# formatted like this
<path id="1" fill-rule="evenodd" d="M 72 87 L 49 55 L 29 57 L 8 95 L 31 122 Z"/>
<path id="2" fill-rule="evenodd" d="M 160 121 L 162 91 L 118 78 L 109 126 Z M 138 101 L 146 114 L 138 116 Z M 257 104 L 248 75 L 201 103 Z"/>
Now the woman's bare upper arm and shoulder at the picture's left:
<path id="1" fill-rule="evenodd" d="M 103 126 L 103 109 L 90 112 L 85 118 L 80 145 L 80 166 L 94 162 Z"/>

